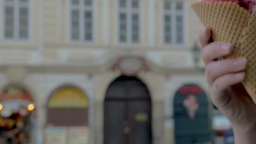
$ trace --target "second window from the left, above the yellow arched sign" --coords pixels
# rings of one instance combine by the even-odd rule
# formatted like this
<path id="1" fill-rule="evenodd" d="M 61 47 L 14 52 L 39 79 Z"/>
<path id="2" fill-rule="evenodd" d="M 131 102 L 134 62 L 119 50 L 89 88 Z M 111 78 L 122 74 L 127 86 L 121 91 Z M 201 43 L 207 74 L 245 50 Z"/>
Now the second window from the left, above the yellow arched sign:
<path id="1" fill-rule="evenodd" d="M 93 40 L 93 0 L 71 0 L 71 40 Z"/>

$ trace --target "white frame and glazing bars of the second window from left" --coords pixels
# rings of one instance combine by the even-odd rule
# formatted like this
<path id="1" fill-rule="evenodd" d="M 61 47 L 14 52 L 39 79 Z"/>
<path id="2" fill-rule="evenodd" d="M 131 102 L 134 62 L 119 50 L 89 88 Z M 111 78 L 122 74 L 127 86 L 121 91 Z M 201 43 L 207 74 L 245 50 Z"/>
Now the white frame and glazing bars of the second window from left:
<path id="1" fill-rule="evenodd" d="M 79 0 L 79 3 L 84 3 L 85 0 Z M 85 40 L 85 27 L 84 26 L 84 21 L 85 21 L 85 18 L 84 18 L 84 12 L 87 11 L 85 9 L 85 5 L 79 5 L 78 6 L 78 11 L 79 11 L 79 31 L 81 31 L 79 33 L 79 39 L 78 40 L 73 40 L 72 39 L 72 10 L 73 10 L 73 5 L 72 5 L 72 0 L 68 0 L 68 11 L 67 11 L 67 30 L 68 30 L 68 41 L 69 43 L 88 43 L 88 44 L 91 44 L 91 43 L 94 43 L 95 42 L 95 35 L 96 35 L 96 27 L 95 27 L 95 24 L 96 24 L 96 2 L 95 0 L 92 0 L 92 6 L 91 6 L 91 13 L 92 13 L 92 37 L 91 37 L 91 40 Z M 81 15 L 82 14 L 82 15 Z M 80 30 L 81 28 L 81 30 Z"/>

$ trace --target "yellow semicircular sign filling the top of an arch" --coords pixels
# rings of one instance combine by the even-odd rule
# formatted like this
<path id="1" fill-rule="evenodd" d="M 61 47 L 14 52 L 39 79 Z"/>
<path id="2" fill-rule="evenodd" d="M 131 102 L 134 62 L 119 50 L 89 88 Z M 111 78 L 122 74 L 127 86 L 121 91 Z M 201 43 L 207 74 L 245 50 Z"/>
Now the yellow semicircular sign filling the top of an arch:
<path id="1" fill-rule="evenodd" d="M 48 107 L 50 108 L 87 108 L 87 96 L 78 88 L 64 87 L 56 90 L 51 96 Z"/>

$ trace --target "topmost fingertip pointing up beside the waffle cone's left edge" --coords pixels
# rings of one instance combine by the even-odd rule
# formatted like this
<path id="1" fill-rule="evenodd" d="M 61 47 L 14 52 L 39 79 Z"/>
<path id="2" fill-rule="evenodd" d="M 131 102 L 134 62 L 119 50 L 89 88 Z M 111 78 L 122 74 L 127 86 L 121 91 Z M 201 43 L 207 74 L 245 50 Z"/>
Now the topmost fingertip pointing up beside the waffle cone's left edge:
<path id="1" fill-rule="evenodd" d="M 205 47 L 205 45 L 208 45 L 211 38 L 211 29 L 208 27 L 205 27 L 204 29 L 202 29 L 199 32 L 198 38 L 202 47 Z"/>

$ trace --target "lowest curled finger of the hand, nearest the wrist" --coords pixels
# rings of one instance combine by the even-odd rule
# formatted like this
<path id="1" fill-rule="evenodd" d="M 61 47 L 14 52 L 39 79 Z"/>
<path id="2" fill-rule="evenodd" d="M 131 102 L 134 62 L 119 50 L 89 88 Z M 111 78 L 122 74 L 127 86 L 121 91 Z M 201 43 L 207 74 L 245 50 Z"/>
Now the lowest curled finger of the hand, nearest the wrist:
<path id="1" fill-rule="evenodd" d="M 219 105 L 220 103 L 225 104 L 227 102 L 227 97 L 224 97 L 224 91 L 232 85 L 241 83 L 244 79 L 244 72 L 227 74 L 218 77 L 211 87 L 213 103 L 216 105 Z"/>

